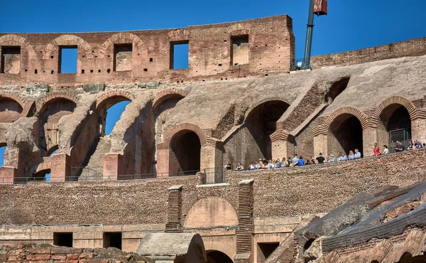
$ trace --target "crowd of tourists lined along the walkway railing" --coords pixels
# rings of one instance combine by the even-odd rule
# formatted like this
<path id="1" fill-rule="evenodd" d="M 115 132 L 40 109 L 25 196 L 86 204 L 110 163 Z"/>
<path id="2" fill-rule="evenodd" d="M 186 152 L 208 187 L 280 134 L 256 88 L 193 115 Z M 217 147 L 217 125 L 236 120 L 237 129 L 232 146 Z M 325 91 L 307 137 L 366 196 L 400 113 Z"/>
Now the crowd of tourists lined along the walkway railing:
<path id="1" fill-rule="evenodd" d="M 395 152 L 402 152 L 402 151 L 409 151 L 414 149 L 420 149 L 426 147 L 426 144 L 421 144 L 417 139 L 408 141 L 407 149 L 405 149 L 405 146 L 400 142 L 396 141 L 396 146 L 394 148 Z M 383 145 L 383 151 L 382 149 L 377 145 L 377 143 L 374 144 L 373 148 L 373 154 L 374 156 L 382 155 L 382 154 L 389 154 L 389 148 L 387 145 Z M 295 156 L 293 158 L 288 157 L 288 159 L 276 159 L 276 160 L 265 160 L 265 159 L 259 159 L 258 161 L 253 161 L 250 163 L 249 167 L 247 167 L 246 170 L 258 170 L 258 169 L 273 169 L 273 168 L 283 168 L 283 167 L 293 167 L 293 166 L 306 166 L 316 163 L 330 163 L 333 161 L 349 161 L 349 160 L 355 160 L 355 159 L 361 159 L 361 152 L 359 149 L 354 149 L 354 151 L 350 150 L 349 154 L 346 156 L 345 153 L 342 153 L 337 157 L 337 159 L 334 158 L 333 154 L 329 154 L 329 156 L 322 156 L 322 153 L 320 153 L 316 158 L 311 157 L 307 160 L 303 159 L 303 156 Z M 226 166 L 224 167 L 226 170 L 231 170 L 232 166 L 231 163 L 227 162 Z M 241 163 L 238 163 L 238 166 L 235 168 L 236 171 L 243 171 L 244 166 L 241 165 Z"/>

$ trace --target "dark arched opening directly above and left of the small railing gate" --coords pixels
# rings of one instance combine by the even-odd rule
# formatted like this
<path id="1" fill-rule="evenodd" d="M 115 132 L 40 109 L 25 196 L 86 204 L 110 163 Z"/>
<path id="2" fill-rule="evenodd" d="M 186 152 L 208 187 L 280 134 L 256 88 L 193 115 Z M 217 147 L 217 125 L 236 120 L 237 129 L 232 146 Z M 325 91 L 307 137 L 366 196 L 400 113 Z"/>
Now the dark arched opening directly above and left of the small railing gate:
<path id="1" fill-rule="evenodd" d="M 200 171 L 201 142 L 195 132 L 183 130 L 170 140 L 170 175 L 188 175 Z"/>

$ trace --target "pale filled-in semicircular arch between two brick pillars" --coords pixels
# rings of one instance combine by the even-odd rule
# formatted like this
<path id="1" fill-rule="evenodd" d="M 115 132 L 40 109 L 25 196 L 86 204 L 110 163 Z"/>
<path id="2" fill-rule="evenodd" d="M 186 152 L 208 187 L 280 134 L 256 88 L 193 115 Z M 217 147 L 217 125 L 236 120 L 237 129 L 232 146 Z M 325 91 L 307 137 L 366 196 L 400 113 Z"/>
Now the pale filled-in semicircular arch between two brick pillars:
<path id="1" fill-rule="evenodd" d="M 197 200 L 185 218 L 184 227 L 217 227 L 238 225 L 238 215 L 234 206 L 221 197 L 208 197 Z"/>

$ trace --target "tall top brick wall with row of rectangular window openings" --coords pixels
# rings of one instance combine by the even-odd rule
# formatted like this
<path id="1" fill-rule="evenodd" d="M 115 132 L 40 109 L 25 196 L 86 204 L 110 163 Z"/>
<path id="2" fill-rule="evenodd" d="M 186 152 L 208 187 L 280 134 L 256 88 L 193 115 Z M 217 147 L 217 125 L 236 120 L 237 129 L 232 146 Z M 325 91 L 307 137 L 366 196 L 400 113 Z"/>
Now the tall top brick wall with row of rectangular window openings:
<path id="1" fill-rule="evenodd" d="M 155 31 L 0 33 L 0 85 L 31 82 L 198 81 L 283 73 L 295 56 L 287 15 Z M 175 45 L 188 68 L 175 70 Z M 77 48 L 75 73 L 61 73 L 62 50 Z"/>

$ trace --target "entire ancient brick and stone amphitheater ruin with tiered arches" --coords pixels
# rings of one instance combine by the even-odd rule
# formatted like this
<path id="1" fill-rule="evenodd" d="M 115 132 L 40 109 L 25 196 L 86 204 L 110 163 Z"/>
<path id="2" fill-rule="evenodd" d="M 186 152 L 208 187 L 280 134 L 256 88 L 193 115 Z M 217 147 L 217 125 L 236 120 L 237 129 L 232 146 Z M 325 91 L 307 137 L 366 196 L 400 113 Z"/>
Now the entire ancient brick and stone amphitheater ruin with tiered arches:
<path id="1" fill-rule="evenodd" d="M 426 149 L 373 144 L 426 142 L 426 38 L 296 70 L 292 28 L 0 33 L 0 261 L 150 262 L 132 252 L 171 232 L 204 243 L 200 262 L 425 262 Z M 180 44 L 189 67 L 174 69 Z M 234 171 L 352 149 L 363 158 Z"/>

